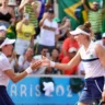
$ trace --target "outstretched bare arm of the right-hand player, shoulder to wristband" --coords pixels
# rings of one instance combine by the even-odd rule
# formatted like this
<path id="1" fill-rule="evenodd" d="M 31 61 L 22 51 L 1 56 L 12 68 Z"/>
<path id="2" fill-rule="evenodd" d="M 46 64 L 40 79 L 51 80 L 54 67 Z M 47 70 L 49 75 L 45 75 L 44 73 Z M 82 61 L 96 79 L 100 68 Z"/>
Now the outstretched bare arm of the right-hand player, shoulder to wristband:
<path id="1" fill-rule="evenodd" d="M 73 67 L 78 66 L 81 61 L 81 57 L 80 57 L 80 52 L 78 51 L 78 54 L 74 56 L 74 58 L 72 58 L 70 60 L 70 62 L 68 63 L 56 63 L 55 68 L 59 69 L 59 70 L 70 70 Z"/>

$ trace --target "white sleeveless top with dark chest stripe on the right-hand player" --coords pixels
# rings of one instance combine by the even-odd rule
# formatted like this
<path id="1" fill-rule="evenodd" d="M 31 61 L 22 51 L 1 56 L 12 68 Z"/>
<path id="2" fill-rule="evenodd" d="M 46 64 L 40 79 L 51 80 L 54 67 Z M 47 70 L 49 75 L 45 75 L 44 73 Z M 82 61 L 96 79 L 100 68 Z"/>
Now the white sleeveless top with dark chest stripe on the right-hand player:
<path id="1" fill-rule="evenodd" d="M 105 68 L 95 52 L 95 46 L 96 44 L 91 42 L 88 50 L 84 49 L 84 46 L 79 50 L 85 70 L 85 79 L 105 75 Z"/>

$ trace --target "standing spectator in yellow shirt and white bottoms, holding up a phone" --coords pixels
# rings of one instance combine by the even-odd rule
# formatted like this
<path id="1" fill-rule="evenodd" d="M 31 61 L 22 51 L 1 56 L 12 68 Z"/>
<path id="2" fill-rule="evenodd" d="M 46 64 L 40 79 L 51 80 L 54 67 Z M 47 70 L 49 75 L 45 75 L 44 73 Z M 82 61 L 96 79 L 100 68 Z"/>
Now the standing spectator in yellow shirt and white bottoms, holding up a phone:
<path id="1" fill-rule="evenodd" d="M 34 47 L 35 30 L 32 23 L 30 23 L 28 14 L 23 15 L 23 20 L 16 24 L 18 38 L 15 42 L 16 54 L 23 55 L 28 47 Z"/>

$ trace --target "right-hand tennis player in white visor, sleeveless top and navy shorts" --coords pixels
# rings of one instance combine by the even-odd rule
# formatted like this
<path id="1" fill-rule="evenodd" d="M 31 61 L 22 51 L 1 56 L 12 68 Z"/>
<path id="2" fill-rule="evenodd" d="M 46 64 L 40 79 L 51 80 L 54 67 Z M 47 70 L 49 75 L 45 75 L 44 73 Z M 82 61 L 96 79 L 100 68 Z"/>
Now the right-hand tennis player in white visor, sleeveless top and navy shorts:
<path id="1" fill-rule="evenodd" d="M 58 63 L 50 61 L 47 58 L 43 58 L 42 66 L 50 66 L 58 68 L 59 70 L 68 70 L 78 66 L 81 61 L 85 70 L 85 86 L 81 93 L 78 105 L 92 105 L 92 103 L 100 103 L 102 100 L 105 101 L 105 49 L 101 44 L 95 44 L 91 39 L 91 24 L 90 22 L 84 23 L 70 32 L 74 35 L 74 38 L 81 45 L 77 55 L 70 60 L 69 63 Z"/>

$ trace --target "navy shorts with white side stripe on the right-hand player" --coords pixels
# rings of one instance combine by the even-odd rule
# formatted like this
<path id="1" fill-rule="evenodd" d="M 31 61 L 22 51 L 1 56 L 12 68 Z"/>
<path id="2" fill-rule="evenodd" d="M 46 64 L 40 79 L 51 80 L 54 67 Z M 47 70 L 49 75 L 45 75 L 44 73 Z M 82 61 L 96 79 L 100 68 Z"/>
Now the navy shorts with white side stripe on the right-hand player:
<path id="1" fill-rule="evenodd" d="M 98 103 L 102 98 L 103 86 L 104 77 L 85 79 L 85 85 L 79 102 L 84 104 Z"/>

